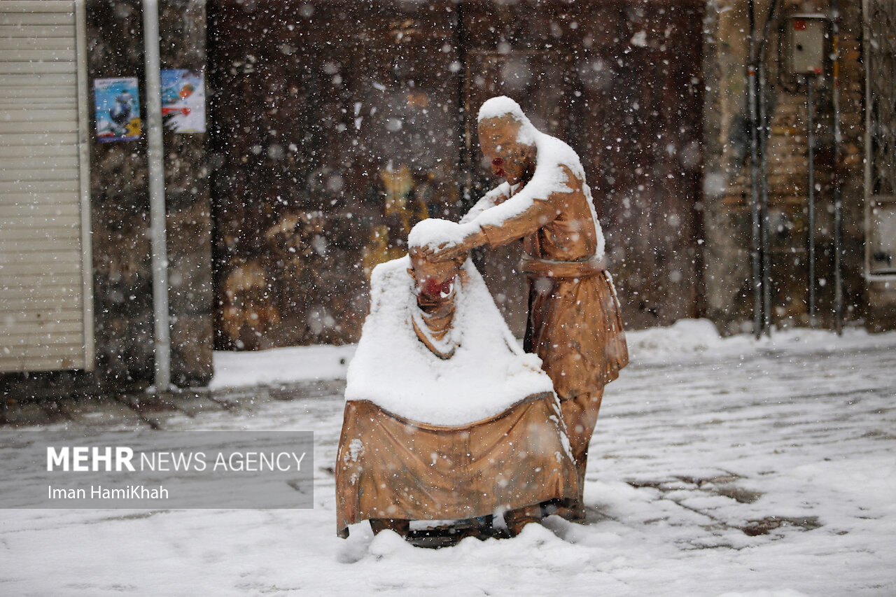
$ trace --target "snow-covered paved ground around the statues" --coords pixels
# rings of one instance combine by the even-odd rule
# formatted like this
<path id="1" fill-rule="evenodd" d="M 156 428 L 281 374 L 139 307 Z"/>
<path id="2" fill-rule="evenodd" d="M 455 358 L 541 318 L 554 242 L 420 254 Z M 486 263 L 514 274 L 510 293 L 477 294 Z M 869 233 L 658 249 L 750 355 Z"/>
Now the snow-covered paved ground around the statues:
<path id="1" fill-rule="evenodd" d="M 0 594 L 896 594 L 896 333 L 754 342 L 685 321 L 630 343 L 590 447 L 590 523 L 552 517 L 513 540 L 418 549 L 366 523 L 338 539 L 327 467 L 340 396 L 166 431 L 0 429 L 0 458 L 84 434 L 310 429 L 317 468 L 313 510 L 4 510 Z M 215 385 L 335 377 L 350 356 L 221 354 Z"/>

